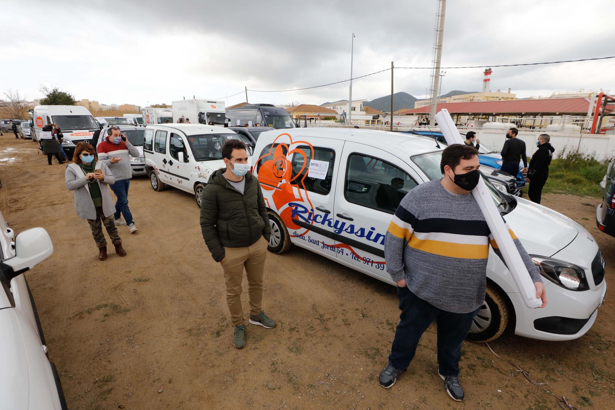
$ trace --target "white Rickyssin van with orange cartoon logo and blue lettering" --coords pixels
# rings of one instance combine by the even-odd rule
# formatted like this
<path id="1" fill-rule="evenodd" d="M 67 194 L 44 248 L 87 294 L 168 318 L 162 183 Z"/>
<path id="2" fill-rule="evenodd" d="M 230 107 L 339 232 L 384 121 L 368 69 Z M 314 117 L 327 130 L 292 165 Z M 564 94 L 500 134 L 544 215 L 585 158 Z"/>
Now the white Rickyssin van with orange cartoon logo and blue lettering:
<path id="1" fill-rule="evenodd" d="M 253 174 L 272 228 L 270 251 L 282 253 L 295 244 L 394 284 L 386 271 L 384 236 L 403 196 L 442 177 L 442 149 L 433 140 L 365 129 L 295 128 L 263 132 L 254 152 Z M 541 268 L 549 303 L 527 308 L 506 265 L 490 249 L 485 302 L 467 339 L 493 340 L 513 318 L 520 336 L 582 336 L 606 293 L 604 259 L 592 235 L 565 215 L 483 179 Z M 563 273 L 578 283 L 561 280 Z"/>

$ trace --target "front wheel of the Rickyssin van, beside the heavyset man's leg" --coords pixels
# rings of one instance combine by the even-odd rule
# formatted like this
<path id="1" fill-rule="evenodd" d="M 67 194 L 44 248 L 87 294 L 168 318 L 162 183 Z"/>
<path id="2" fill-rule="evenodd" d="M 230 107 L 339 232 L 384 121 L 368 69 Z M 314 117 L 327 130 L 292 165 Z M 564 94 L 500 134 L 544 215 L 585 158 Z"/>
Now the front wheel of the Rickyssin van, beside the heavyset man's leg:
<path id="1" fill-rule="evenodd" d="M 509 317 L 510 305 L 503 292 L 493 283 L 487 283 L 485 302 L 474 316 L 466 339 L 477 343 L 498 339 L 506 330 Z"/>

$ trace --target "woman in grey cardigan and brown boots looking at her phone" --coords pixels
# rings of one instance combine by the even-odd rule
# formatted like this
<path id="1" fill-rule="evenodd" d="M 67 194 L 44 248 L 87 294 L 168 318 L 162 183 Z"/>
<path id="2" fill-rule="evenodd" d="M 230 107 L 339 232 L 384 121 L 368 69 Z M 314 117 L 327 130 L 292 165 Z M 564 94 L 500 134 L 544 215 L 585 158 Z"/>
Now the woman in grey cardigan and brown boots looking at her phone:
<path id="1" fill-rule="evenodd" d="M 125 256 L 126 251 L 122 247 L 122 239 L 113 217 L 115 206 L 108 188 L 108 185 L 115 182 L 115 177 L 105 163 L 97 161 L 92 145 L 85 142 L 77 144 L 73 163 L 66 166 L 65 179 L 66 188 L 74 193 L 77 216 L 87 219 L 90 225 L 98 247 L 98 259 L 107 259 L 107 241 L 102 225 L 105 225 L 116 254 Z"/>

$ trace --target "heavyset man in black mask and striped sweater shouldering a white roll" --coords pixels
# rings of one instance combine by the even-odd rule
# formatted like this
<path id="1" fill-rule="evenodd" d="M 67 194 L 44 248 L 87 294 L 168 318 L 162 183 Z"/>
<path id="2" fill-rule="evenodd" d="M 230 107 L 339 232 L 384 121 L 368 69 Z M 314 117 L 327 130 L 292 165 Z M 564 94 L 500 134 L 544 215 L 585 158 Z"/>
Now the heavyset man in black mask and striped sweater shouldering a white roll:
<path id="1" fill-rule="evenodd" d="M 389 388 L 415 356 L 421 335 L 437 321 L 438 374 L 453 400 L 461 401 L 461 343 L 485 300 L 489 244 L 499 254 L 480 207 L 470 191 L 481 178 L 478 151 L 453 144 L 442 152 L 444 177 L 411 190 L 397 211 L 384 242 L 387 271 L 397 283 L 400 323 L 380 373 Z M 536 297 L 547 304 L 540 271 L 510 230 L 536 286 Z"/>

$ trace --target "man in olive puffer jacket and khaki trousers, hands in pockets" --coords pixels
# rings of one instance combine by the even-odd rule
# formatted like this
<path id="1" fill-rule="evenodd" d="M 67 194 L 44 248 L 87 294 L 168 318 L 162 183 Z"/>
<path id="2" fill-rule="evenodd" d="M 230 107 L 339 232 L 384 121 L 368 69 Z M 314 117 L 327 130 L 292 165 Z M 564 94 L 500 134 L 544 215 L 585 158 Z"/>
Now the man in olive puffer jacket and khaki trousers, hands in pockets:
<path id="1" fill-rule="evenodd" d="M 276 322 L 263 312 L 263 271 L 271 226 L 258 179 L 248 172 L 248 153 L 241 140 L 222 147 L 226 168 L 213 172 L 200 203 L 200 229 L 213 260 L 220 262 L 226 281 L 226 303 L 235 326 L 233 345 L 245 346 L 245 316 L 241 306 L 244 266 L 248 278 L 250 324 L 266 329 Z"/>

